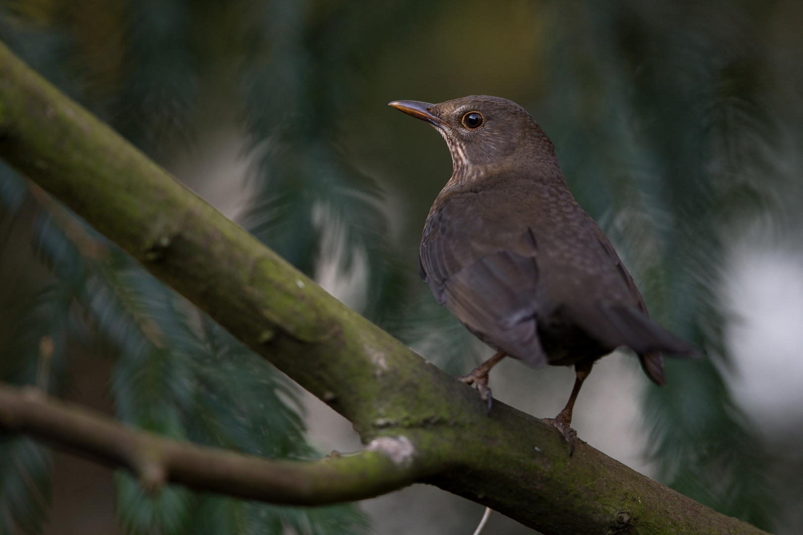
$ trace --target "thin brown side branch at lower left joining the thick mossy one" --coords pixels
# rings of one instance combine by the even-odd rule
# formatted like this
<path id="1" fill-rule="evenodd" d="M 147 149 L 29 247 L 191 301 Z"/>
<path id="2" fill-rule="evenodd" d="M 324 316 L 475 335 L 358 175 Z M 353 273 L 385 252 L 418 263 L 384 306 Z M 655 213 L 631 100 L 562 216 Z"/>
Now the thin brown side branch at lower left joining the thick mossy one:
<path id="1" fill-rule="evenodd" d="M 168 440 L 106 415 L 47 398 L 37 388 L 0 386 L 0 425 L 68 452 L 127 468 L 156 491 L 167 482 L 285 505 L 364 500 L 412 483 L 407 444 L 375 440 L 353 456 L 318 461 L 257 456 Z"/>

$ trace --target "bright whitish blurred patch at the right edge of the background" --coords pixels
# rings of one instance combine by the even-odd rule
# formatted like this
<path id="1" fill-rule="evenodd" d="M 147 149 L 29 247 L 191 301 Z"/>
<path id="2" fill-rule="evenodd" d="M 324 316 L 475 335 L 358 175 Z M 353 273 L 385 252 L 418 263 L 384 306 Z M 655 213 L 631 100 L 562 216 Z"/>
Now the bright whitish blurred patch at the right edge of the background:
<path id="1" fill-rule="evenodd" d="M 741 245 L 725 294 L 736 403 L 768 435 L 803 419 L 803 256 L 781 246 Z"/>

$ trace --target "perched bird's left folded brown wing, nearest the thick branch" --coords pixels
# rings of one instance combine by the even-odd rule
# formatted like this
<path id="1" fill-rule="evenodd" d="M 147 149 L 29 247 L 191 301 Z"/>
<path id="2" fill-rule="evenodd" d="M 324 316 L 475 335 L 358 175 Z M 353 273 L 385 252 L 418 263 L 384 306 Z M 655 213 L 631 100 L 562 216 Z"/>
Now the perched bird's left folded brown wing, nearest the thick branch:
<path id="1" fill-rule="evenodd" d="M 472 332 L 508 355 L 543 367 L 547 357 L 535 320 L 536 252 L 528 227 L 487 225 L 471 199 L 454 198 L 427 221 L 419 268 L 438 302 Z"/>

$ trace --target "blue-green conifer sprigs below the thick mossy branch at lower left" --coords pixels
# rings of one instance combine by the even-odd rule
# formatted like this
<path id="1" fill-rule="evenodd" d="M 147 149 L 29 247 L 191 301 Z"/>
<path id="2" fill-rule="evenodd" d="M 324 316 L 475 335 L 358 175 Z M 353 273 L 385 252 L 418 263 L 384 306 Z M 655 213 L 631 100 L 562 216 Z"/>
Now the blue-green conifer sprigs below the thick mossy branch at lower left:
<path id="1" fill-rule="evenodd" d="M 3 170 L 6 200 L 17 200 L 6 203 L 8 219 L 22 208 L 26 184 Z M 55 280 L 21 307 L 3 348 L 7 380 L 59 394 L 67 383 L 68 342 L 83 342 L 114 355 L 116 415 L 130 424 L 260 456 L 317 457 L 304 439 L 304 411 L 294 384 L 126 253 L 33 191 L 43 204 L 31 238 Z M 17 436 L 3 436 L 0 449 L 0 529 L 16 533 L 17 526 L 39 533 L 50 496 L 49 452 Z M 349 505 L 276 507 L 177 487 L 149 496 L 127 474 L 117 477 L 116 512 L 128 533 L 284 533 L 291 528 L 328 535 L 366 528 L 365 517 Z"/>

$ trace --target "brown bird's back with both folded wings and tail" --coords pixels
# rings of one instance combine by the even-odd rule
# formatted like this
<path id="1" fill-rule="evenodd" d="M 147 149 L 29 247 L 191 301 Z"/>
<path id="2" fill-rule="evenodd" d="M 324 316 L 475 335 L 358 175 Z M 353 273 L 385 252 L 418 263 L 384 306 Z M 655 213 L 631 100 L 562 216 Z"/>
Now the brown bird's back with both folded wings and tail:
<path id="1" fill-rule="evenodd" d="M 480 338 L 538 367 L 547 357 L 536 314 L 559 314 L 609 351 L 633 349 L 659 384 L 661 352 L 697 354 L 650 320 L 613 246 L 585 213 L 560 225 L 528 225 L 532 210 L 510 217 L 488 209 L 499 205 L 491 201 L 489 192 L 451 197 L 427 221 L 419 251 L 422 278 L 438 302 Z"/>

